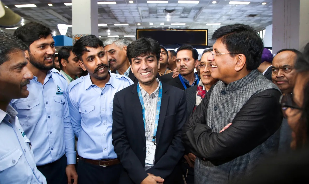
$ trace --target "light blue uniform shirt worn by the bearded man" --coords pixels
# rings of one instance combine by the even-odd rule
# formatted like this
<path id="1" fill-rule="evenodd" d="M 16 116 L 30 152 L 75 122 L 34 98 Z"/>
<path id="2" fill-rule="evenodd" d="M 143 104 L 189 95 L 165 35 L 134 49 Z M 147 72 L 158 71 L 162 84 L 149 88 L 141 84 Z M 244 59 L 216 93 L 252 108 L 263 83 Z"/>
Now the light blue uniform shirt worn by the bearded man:
<path id="1" fill-rule="evenodd" d="M 68 83 L 58 72 L 56 69 L 48 71 L 43 85 L 34 76 L 27 85 L 29 96 L 11 101 L 32 142 L 36 165 L 57 161 L 64 154 L 67 164 L 76 163 Z"/>

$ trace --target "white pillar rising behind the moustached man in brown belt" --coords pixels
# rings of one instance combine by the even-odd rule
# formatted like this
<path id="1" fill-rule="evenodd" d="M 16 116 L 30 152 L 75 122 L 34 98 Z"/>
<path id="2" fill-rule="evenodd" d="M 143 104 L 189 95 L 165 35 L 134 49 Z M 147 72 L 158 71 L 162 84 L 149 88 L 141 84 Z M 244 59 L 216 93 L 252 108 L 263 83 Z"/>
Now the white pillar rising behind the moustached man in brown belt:
<path id="1" fill-rule="evenodd" d="M 73 44 L 86 35 L 99 35 L 98 1 L 72 0 L 72 36 Z"/>

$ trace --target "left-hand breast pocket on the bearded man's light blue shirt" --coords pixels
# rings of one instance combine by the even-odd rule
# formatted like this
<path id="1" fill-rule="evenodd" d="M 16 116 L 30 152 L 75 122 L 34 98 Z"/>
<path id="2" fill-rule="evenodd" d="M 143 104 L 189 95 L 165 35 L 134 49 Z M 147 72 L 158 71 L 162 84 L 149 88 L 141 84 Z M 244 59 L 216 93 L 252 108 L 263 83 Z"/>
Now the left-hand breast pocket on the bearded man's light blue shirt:
<path id="1" fill-rule="evenodd" d="M 16 102 L 15 106 L 18 111 L 19 123 L 22 125 L 32 126 L 40 119 L 40 101 L 38 99 L 23 100 Z"/>

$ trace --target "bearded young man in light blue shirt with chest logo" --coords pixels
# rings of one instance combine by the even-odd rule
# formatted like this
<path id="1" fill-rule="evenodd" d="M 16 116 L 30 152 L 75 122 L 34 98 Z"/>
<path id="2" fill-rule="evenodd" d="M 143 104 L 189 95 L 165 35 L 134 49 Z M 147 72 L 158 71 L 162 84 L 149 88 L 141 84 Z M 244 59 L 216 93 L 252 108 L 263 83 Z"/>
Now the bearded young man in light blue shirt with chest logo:
<path id="1" fill-rule="evenodd" d="M 67 184 L 74 179 L 76 152 L 74 132 L 68 107 L 66 79 L 53 69 L 55 54 L 51 30 L 40 23 L 27 23 L 15 30 L 14 35 L 29 46 L 25 52 L 27 67 L 34 77 L 28 85 L 25 99 L 14 99 L 12 107 L 28 138 L 37 168 L 48 184 Z"/>

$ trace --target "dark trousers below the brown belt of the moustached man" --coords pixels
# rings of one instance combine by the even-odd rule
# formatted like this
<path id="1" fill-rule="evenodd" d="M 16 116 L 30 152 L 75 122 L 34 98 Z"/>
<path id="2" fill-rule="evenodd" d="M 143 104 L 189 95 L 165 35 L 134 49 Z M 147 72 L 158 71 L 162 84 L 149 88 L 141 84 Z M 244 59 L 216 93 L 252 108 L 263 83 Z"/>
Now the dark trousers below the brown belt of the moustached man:
<path id="1" fill-rule="evenodd" d="M 120 163 L 103 167 L 79 160 L 77 166 L 78 184 L 118 184 L 122 170 L 123 167 Z"/>

